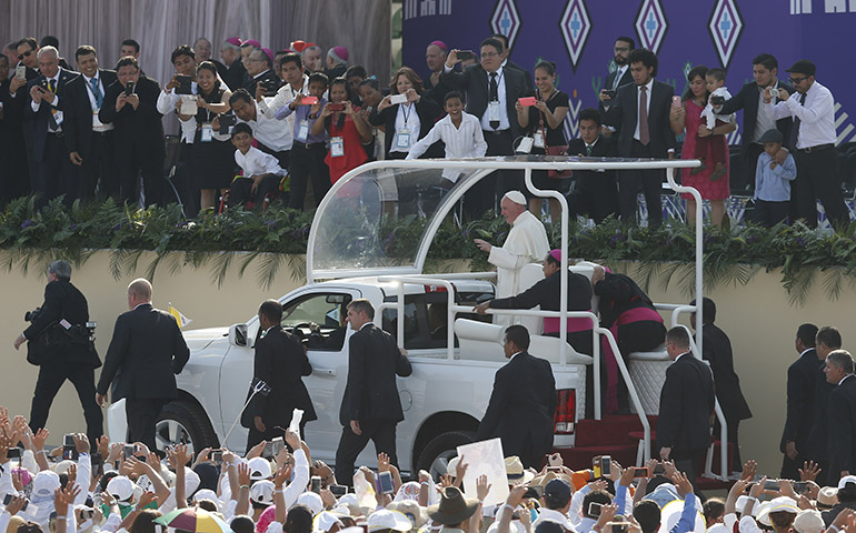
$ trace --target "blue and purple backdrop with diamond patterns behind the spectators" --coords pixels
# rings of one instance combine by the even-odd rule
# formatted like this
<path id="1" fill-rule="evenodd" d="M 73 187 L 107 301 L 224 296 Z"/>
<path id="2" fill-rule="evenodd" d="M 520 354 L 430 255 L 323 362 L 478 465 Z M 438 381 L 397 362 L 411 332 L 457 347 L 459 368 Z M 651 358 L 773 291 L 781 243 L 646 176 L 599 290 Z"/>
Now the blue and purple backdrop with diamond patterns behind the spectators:
<path id="1" fill-rule="evenodd" d="M 531 71 L 540 58 L 556 62 L 558 86 L 570 95 L 566 134 L 577 137 L 579 110 L 613 64 L 618 36 L 633 37 L 659 57 L 660 81 L 683 92 L 698 64 L 727 69 L 736 93 L 752 81 L 752 59 L 779 61 L 779 79 L 798 59 L 817 64 L 817 80 L 836 99 L 838 142 L 856 141 L 856 70 L 850 64 L 856 0 L 404 0 L 404 63 L 427 76 L 425 49 L 435 39 L 478 50 L 498 31 L 511 40 L 511 59 Z M 739 142 L 738 130 L 729 139 Z"/>

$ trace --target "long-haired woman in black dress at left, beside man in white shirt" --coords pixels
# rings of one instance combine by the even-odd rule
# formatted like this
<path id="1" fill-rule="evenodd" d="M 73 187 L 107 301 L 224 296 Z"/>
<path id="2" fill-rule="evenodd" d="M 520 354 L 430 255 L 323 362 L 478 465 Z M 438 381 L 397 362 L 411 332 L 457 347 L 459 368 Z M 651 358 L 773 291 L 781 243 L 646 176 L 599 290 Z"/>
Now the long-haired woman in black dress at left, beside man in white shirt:
<path id="1" fill-rule="evenodd" d="M 231 91 L 217 78 L 217 66 L 203 61 L 197 68 L 196 137 L 190 152 L 193 188 L 200 191 L 200 209 L 215 205 L 217 190 L 228 190 L 235 174 L 235 147 L 228 134 L 211 125 L 215 117 L 230 111 Z"/>

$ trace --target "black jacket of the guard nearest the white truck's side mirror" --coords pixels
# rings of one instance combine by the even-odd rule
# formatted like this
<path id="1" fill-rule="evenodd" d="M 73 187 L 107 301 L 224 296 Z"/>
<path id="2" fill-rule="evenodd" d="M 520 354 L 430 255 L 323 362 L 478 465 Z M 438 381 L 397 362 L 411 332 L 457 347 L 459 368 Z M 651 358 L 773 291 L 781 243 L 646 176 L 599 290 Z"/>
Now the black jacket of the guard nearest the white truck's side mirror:
<path id="1" fill-rule="evenodd" d="M 256 342 L 256 358 L 252 364 L 253 382 L 258 379 L 270 386 L 267 396 L 257 395 L 251 408 L 253 416 L 261 416 L 265 425 L 287 428 L 292 411 L 303 411 L 303 422 L 318 420 L 301 375 L 310 375 L 312 365 L 306 356 L 300 340 L 273 326 Z"/>

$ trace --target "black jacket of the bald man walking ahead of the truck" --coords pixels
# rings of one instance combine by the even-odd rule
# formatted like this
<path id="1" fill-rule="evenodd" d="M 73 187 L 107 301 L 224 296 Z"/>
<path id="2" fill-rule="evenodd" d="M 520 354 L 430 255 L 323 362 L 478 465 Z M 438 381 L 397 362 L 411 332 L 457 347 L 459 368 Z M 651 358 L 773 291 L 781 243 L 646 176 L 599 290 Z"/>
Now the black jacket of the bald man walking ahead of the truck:
<path id="1" fill-rule="evenodd" d="M 116 380 L 112 401 L 176 399 L 175 374 L 189 358 L 176 318 L 150 303 L 140 304 L 116 319 L 97 391 L 107 394 Z"/>

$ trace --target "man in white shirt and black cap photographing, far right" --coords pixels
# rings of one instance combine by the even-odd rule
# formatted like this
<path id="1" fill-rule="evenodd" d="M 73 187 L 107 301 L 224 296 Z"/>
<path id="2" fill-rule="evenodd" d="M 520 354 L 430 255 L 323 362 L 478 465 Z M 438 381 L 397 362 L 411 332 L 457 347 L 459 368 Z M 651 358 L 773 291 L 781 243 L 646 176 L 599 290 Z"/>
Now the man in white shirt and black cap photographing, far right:
<path id="1" fill-rule="evenodd" d="M 764 93 L 764 111 L 775 120 L 794 118 L 790 129 L 794 142 L 785 144 L 795 147 L 797 178 L 792 185 L 792 202 L 796 203 L 797 218 L 816 228 L 817 200 L 820 200 L 829 222 L 843 227 L 849 223 L 850 215 L 838 178 L 835 99 L 829 89 L 815 81 L 816 70 L 815 63 L 807 59 L 794 63 L 787 72 L 797 94 L 792 97 L 782 88 L 773 94 L 768 88 Z M 779 99 L 775 105 L 774 95 Z"/>

